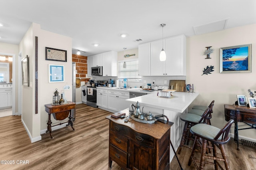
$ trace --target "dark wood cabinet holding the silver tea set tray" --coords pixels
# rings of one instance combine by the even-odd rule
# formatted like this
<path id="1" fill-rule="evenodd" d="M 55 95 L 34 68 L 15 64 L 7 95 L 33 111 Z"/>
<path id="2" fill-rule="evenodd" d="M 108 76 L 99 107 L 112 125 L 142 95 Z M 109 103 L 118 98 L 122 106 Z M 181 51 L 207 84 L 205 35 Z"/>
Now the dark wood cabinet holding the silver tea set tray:
<path id="1" fill-rule="evenodd" d="M 128 115 L 128 109 L 121 112 Z M 131 170 L 170 169 L 170 127 L 173 123 L 124 123 L 124 119 L 106 118 L 109 119 L 110 167 L 114 161 Z"/>

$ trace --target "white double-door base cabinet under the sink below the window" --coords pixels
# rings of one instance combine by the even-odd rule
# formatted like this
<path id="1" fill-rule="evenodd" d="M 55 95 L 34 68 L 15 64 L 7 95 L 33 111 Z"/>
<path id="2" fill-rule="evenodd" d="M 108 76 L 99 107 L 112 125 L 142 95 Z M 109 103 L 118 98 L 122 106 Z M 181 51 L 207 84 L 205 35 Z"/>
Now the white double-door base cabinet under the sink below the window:
<path id="1" fill-rule="evenodd" d="M 129 91 L 108 90 L 108 109 L 121 111 L 129 107 Z"/>

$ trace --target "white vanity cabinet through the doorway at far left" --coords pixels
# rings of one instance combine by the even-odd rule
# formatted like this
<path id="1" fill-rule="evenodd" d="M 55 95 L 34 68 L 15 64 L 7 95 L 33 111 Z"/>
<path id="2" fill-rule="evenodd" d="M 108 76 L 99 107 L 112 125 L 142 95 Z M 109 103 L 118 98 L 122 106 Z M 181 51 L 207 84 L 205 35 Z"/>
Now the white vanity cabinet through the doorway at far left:
<path id="1" fill-rule="evenodd" d="M 0 107 L 12 106 L 12 88 L 0 89 Z"/>

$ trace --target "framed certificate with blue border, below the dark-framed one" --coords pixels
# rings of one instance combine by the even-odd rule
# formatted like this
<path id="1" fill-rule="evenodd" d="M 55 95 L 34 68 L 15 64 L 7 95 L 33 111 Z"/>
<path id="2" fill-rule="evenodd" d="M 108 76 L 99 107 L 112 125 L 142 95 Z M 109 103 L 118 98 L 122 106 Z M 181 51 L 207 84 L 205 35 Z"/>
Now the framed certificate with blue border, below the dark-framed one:
<path id="1" fill-rule="evenodd" d="M 49 64 L 49 83 L 64 82 L 64 66 Z"/>

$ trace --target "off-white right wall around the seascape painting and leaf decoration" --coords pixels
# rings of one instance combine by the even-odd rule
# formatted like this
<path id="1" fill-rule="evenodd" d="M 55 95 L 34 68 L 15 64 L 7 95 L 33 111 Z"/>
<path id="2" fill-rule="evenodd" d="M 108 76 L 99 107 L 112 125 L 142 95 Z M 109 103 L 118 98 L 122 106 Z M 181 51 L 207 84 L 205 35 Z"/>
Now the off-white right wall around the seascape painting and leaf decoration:
<path id="1" fill-rule="evenodd" d="M 191 107 L 209 105 L 212 100 L 215 100 L 211 123 L 218 128 L 222 128 L 227 123 L 224 104 L 232 105 L 237 101 L 236 95 L 250 97 L 247 90 L 256 90 L 255 30 L 256 24 L 253 24 L 187 38 L 186 82 L 193 83 L 195 91 L 199 93 Z M 252 73 L 220 73 L 220 48 L 250 43 L 252 43 Z M 210 54 L 211 59 L 205 59 L 206 55 L 203 55 L 205 47 L 208 46 L 214 49 Z M 204 68 L 210 65 L 214 66 L 212 74 L 202 75 Z M 234 133 L 234 125 L 232 127 L 231 133 Z M 238 127 L 244 128 L 247 125 L 239 123 Z M 239 130 L 238 133 L 245 139 L 256 141 L 255 129 Z"/>

